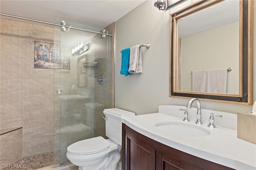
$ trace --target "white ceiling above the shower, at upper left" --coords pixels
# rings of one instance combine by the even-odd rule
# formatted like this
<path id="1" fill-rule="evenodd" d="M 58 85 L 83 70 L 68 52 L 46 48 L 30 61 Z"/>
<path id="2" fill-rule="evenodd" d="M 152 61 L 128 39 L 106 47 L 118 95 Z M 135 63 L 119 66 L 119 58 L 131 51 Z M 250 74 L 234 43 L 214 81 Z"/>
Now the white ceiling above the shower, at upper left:
<path id="1" fill-rule="evenodd" d="M 54 17 L 106 27 L 145 0 L 0 0 L 0 12 L 54 23 Z M 1 16 L 2 17 L 2 16 Z M 58 23 L 57 23 L 58 24 Z"/>

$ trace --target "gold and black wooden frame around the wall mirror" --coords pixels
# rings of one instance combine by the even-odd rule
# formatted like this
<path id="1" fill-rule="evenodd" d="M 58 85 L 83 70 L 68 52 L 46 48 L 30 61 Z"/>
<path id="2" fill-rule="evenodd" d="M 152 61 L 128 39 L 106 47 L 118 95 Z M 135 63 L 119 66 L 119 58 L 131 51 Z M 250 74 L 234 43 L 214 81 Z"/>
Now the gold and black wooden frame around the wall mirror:
<path id="1" fill-rule="evenodd" d="M 221 3 L 223 0 L 199 0 L 179 11 L 170 14 L 170 79 L 169 97 L 198 98 L 206 101 L 252 105 L 253 68 L 253 2 L 240 0 L 239 7 L 239 94 L 203 93 L 180 91 L 178 70 L 178 19 Z"/>

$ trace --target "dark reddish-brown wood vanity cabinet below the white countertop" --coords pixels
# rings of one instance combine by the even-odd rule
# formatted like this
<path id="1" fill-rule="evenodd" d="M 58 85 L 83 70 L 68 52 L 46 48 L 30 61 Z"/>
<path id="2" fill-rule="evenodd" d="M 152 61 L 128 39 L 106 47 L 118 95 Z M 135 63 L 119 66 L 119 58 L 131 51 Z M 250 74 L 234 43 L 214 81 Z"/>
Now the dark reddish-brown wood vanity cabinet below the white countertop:
<path id="1" fill-rule="evenodd" d="M 122 124 L 122 170 L 231 170 L 148 138 Z"/>

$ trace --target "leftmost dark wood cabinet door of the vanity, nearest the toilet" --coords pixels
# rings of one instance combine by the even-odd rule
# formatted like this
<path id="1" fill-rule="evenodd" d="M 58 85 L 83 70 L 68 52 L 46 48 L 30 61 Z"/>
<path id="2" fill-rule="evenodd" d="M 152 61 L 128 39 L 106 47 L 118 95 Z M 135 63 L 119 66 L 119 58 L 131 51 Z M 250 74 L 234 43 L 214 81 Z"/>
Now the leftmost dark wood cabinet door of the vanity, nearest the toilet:
<path id="1" fill-rule="evenodd" d="M 155 170 L 156 150 L 126 132 L 126 170 Z"/>

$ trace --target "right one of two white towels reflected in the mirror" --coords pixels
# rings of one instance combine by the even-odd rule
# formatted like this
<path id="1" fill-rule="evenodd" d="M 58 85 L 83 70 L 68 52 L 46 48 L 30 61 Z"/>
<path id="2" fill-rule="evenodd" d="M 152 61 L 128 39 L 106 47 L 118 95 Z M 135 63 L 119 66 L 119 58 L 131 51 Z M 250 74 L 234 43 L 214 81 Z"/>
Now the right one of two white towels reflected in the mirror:
<path id="1" fill-rule="evenodd" d="M 208 70 L 207 92 L 209 93 L 226 93 L 227 89 L 227 69 L 210 69 Z"/>

